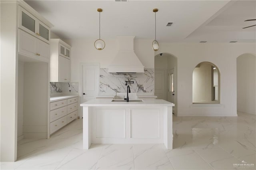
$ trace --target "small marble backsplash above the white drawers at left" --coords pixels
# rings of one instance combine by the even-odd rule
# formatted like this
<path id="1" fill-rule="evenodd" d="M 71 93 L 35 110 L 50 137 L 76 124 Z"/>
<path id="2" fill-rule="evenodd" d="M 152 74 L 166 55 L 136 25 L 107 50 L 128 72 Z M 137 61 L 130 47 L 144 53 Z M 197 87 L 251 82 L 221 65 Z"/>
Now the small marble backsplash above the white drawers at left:
<path id="1" fill-rule="evenodd" d="M 50 82 L 50 94 L 78 93 L 78 83 Z"/>

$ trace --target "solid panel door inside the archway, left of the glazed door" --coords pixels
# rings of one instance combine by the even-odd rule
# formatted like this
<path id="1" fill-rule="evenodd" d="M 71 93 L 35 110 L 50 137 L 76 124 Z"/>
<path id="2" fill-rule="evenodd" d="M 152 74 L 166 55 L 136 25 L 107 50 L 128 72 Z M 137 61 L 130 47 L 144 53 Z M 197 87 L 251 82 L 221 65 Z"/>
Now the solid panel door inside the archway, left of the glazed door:
<path id="1" fill-rule="evenodd" d="M 166 70 L 155 69 L 155 95 L 166 100 Z"/>

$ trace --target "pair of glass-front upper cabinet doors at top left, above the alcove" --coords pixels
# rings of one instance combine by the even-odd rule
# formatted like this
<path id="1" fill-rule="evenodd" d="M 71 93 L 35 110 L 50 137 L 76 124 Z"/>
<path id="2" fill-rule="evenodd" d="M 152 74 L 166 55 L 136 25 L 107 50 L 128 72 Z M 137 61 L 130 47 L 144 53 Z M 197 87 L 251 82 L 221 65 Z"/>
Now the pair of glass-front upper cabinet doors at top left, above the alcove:
<path id="1" fill-rule="evenodd" d="M 19 28 L 32 36 L 49 43 L 50 28 L 19 6 Z"/>

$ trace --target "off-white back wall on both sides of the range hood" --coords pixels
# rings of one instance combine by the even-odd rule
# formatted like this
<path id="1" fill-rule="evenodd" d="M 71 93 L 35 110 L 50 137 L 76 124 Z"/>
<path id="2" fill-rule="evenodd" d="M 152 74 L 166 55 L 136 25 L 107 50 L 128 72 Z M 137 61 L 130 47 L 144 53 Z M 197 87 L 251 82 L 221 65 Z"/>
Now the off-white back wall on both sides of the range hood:
<path id="1" fill-rule="evenodd" d="M 94 48 L 94 39 L 64 41 L 72 46 L 71 82 L 80 81 L 80 63 L 100 63 L 100 68 L 108 68 L 118 50 L 116 39 L 104 40 L 106 47 L 100 51 Z M 154 68 L 154 51 L 151 43 L 152 40 L 134 40 L 134 52 L 145 68 Z"/>

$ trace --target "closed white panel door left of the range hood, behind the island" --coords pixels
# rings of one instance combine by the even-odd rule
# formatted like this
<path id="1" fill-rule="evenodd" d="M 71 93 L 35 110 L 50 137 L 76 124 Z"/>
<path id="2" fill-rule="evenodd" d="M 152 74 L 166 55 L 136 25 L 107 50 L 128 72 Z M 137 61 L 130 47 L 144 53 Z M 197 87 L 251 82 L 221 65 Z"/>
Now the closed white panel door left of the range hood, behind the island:
<path id="1" fill-rule="evenodd" d="M 100 63 L 82 63 L 80 69 L 80 101 L 95 99 L 100 85 Z M 80 109 L 82 115 L 82 109 Z"/>

